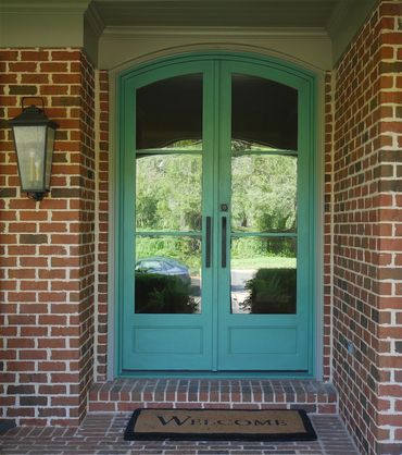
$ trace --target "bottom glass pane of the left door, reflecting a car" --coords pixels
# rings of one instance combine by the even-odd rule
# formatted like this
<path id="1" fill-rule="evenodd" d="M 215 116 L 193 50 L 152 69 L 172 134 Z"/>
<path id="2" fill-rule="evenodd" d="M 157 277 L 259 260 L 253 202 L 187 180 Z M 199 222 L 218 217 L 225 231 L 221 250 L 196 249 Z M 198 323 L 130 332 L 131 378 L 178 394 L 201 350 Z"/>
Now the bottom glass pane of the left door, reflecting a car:
<path id="1" fill-rule="evenodd" d="M 201 239 L 137 236 L 135 312 L 201 312 Z"/>

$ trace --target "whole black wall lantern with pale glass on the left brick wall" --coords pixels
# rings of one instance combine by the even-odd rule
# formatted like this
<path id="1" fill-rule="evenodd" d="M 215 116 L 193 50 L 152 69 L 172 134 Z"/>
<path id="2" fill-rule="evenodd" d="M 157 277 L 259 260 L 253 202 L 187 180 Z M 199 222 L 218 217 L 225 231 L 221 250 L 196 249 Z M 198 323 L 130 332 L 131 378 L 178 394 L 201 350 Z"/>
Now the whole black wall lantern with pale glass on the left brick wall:
<path id="1" fill-rule="evenodd" d="M 45 115 L 35 104 L 24 106 L 22 113 L 9 121 L 13 128 L 14 144 L 21 179 L 21 190 L 35 200 L 42 200 L 50 190 L 55 130 L 59 125 Z"/>

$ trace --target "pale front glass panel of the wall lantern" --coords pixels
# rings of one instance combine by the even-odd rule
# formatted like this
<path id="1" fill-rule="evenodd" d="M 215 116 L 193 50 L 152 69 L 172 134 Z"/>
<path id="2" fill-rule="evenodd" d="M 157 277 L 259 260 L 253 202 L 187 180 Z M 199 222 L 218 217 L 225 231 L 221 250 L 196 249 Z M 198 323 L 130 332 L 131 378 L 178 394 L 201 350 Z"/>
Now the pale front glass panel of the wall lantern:
<path id="1" fill-rule="evenodd" d="M 43 190 L 46 125 L 14 126 L 21 189 Z"/>

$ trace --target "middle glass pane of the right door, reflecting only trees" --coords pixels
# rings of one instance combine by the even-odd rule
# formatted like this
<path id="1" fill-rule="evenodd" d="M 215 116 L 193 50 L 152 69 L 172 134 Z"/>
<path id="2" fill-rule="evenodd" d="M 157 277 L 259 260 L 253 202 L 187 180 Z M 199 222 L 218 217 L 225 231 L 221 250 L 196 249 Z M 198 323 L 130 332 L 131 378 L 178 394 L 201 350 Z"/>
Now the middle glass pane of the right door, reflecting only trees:
<path id="1" fill-rule="evenodd" d="M 297 157 L 242 155 L 231 159 L 231 229 L 296 232 Z"/>

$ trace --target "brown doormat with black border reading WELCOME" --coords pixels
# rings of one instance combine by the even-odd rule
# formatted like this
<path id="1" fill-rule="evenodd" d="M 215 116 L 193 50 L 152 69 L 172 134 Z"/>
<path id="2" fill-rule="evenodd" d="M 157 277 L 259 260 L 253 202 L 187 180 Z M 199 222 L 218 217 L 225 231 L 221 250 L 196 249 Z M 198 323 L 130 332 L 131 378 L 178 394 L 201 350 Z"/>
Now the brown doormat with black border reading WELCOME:
<path id="1" fill-rule="evenodd" d="M 314 441 L 317 436 L 304 410 L 137 409 L 124 439 Z"/>

